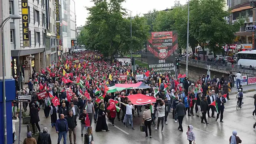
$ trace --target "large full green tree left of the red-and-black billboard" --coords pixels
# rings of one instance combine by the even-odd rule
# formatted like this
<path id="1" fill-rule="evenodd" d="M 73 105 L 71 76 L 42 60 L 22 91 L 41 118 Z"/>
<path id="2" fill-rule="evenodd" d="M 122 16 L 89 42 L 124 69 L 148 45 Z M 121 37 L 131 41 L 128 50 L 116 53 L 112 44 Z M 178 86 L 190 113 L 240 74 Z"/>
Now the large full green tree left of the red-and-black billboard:
<path id="1" fill-rule="evenodd" d="M 121 7 L 124 0 L 92 0 L 94 6 L 87 8 L 90 16 L 87 18 L 86 29 L 89 49 L 98 50 L 112 60 L 115 54 L 126 54 L 143 48 L 148 38 L 149 26 L 146 19 L 135 16 L 132 19 L 132 38 L 130 20 Z"/>

